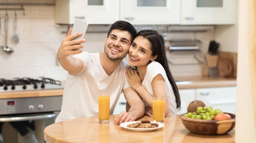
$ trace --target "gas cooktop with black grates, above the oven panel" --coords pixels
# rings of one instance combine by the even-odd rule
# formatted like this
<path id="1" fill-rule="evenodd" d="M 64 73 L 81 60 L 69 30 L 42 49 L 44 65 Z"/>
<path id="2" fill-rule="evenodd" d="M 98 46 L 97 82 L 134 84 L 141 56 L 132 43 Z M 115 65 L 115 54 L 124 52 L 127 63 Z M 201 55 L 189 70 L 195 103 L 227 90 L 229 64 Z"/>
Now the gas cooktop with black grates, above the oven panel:
<path id="1" fill-rule="evenodd" d="M 32 78 L 14 78 L 12 80 L 0 79 L 0 92 L 17 92 L 17 91 L 33 91 L 33 90 L 52 90 L 63 89 L 61 81 L 39 77 Z"/>

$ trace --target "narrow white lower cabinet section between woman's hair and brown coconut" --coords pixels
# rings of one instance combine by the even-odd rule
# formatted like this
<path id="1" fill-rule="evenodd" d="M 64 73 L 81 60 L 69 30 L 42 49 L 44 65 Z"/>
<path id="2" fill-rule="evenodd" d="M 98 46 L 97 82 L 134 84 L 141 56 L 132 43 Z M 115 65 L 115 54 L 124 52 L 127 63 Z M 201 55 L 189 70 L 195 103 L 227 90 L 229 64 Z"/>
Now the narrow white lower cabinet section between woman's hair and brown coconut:
<path id="1" fill-rule="evenodd" d="M 180 110 L 177 112 L 178 115 L 186 113 L 187 107 L 190 102 L 195 100 L 195 89 L 182 89 L 180 93 Z"/>

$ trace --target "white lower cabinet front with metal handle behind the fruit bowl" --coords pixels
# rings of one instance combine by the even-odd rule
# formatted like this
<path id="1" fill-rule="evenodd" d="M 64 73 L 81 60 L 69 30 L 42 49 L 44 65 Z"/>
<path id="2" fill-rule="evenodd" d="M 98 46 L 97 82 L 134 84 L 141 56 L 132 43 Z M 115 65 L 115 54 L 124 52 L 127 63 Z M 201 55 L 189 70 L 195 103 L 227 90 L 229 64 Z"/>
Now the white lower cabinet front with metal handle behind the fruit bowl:
<path id="1" fill-rule="evenodd" d="M 196 99 L 204 101 L 213 109 L 236 113 L 236 87 L 198 88 Z"/>

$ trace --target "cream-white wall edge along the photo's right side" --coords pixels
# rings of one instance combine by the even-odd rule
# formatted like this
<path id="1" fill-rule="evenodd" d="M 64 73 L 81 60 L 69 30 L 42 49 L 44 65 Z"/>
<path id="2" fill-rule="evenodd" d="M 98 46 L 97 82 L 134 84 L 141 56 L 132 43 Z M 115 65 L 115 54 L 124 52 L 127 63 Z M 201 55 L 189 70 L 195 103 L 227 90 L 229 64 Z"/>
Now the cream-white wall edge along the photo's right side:
<path id="1" fill-rule="evenodd" d="M 236 143 L 255 143 L 255 119 L 253 95 L 249 73 L 248 50 L 248 1 L 239 3 L 239 39 L 236 99 Z M 254 103 L 256 104 L 256 103 Z"/>

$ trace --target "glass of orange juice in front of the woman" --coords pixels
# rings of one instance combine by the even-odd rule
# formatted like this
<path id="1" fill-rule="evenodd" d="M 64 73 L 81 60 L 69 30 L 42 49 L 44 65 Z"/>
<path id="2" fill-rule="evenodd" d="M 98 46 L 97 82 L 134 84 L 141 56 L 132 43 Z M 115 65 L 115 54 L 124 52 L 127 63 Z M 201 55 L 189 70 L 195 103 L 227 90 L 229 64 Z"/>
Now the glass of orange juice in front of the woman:
<path id="1" fill-rule="evenodd" d="M 153 120 L 155 122 L 164 123 L 164 107 L 165 97 L 152 97 L 153 98 Z"/>

